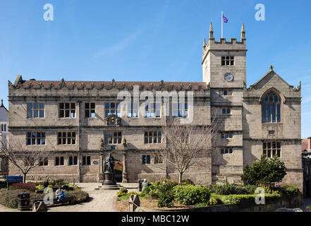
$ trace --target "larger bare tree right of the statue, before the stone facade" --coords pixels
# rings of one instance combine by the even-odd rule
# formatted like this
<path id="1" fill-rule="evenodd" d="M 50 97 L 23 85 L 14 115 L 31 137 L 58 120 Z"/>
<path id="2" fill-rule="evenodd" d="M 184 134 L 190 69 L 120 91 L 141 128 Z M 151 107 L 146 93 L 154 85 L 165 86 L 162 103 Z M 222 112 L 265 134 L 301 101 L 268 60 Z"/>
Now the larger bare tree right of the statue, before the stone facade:
<path id="1" fill-rule="evenodd" d="M 202 165 L 204 156 L 212 157 L 221 143 L 219 124 L 212 123 L 179 124 L 177 120 L 168 119 L 163 126 L 164 139 L 161 144 L 164 151 L 158 152 L 166 161 L 166 165 L 173 165 L 179 173 L 182 182 L 183 173 L 193 165 Z"/>

